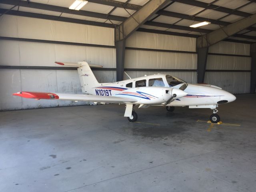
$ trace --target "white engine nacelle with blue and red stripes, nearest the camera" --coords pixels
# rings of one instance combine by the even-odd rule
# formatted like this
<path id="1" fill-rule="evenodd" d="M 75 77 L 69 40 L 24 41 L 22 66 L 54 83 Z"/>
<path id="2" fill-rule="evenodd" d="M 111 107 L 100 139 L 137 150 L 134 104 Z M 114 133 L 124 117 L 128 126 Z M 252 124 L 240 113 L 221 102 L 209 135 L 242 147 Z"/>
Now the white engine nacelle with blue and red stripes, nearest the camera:
<path id="1" fill-rule="evenodd" d="M 166 102 L 172 102 L 172 99 L 178 99 L 187 95 L 186 92 L 169 87 L 137 87 L 124 90 L 116 94 L 137 100 L 134 104 L 158 105 Z"/>

